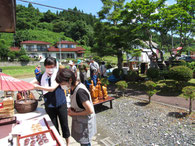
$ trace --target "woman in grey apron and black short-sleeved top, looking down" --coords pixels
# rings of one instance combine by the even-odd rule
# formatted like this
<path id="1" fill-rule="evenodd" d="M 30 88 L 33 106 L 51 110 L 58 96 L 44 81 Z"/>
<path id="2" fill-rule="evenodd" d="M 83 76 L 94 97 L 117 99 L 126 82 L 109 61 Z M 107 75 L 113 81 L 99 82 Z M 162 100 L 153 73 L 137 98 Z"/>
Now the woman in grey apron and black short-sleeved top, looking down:
<path id="1" fill-rule="evenodd" d="M 69 69 L 61 69 L 56 82 L 64 90 L 71 90 L 71 108 L 68 115 L 72 117 L 71 136 L 81 146 L 91 146 L 92 137 L 96 134 L 96 115 L 91 95 L 86 86 L 76 80 Z"/>

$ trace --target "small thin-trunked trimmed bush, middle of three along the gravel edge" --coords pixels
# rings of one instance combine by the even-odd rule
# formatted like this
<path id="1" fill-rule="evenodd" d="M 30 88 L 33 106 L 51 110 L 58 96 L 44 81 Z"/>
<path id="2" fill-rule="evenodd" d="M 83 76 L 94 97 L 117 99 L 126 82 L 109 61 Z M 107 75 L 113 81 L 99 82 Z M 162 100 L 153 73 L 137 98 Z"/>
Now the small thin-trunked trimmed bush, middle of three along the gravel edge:
<path id="1" fill-rule="evenodd" d="M 150 103 L 151 97 L 157 92 L 157 90 L 155 89 L 157 84 L 153 81 L 146 81 L 144 85 L 145 85 L 146 93 L 148 94 L 148 98 L 149 98 L 148 102 Z"/>

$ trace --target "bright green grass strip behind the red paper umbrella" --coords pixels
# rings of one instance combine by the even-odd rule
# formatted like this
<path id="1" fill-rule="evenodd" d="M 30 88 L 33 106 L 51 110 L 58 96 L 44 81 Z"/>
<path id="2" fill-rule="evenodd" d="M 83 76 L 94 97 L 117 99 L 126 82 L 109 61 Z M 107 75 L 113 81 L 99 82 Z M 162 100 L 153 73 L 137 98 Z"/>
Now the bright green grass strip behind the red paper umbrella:
<path id="1" fill-rule="evenodd" d="M 15 78 L 34 77 L 35 66 L 7 66 L 0 68 L 3 70 L 3 73 Z"/>

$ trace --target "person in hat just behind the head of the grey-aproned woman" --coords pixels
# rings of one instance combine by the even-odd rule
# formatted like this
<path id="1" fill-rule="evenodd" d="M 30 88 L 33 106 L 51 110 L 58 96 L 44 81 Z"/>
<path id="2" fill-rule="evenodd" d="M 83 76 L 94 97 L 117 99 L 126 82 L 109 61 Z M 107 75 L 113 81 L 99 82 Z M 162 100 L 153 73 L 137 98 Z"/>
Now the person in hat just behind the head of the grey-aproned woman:
<path id="1" fill-rule="evenodd" d="M 87 80 L 87 67 L 83 64 L 83 62 L 81 60 L 77 61 L 77 65 L 78 65 L 78 73 L 77 73 L 77 78 L 78 81 L 80 81 L 83 84 L 86 84 L 86 80 Z"/>

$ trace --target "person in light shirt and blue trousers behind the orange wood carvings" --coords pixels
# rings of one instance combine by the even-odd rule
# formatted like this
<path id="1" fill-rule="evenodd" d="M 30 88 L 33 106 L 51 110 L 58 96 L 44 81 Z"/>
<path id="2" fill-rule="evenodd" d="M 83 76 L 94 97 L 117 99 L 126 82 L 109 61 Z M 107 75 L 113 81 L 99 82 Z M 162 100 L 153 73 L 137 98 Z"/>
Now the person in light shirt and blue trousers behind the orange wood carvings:
<path id="1" fill-rule="evenodd" d="M 97 84 L 97 77 L 99 73 L 99 64 L 95 62 L 93 59 L 90 61 L 90 75 L 93 80 L 94 86 Z"/>

